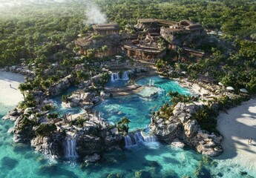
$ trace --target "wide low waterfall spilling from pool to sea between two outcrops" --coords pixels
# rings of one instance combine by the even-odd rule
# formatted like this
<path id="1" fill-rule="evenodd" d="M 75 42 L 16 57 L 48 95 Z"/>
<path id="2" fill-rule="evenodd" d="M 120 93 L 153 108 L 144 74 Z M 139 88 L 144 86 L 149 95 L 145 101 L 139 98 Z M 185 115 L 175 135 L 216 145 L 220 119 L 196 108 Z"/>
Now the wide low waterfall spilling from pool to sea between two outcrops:
<path id="1" fill-rule="evenodd" d="M 135 133 L 130 133 L 124 137 L 125 148 L 131 148 L 131 146 L 137 145 L 141 142 L 143 144 L 157 142 L 157 136 L 151 136 L 143 131 L 137 131 Z"/>

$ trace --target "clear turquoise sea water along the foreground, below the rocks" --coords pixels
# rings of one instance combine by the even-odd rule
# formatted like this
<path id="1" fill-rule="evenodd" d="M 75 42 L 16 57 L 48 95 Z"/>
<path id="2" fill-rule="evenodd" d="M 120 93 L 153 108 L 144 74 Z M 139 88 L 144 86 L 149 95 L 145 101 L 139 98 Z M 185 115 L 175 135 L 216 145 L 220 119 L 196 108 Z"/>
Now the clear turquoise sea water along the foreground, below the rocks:
<path id="1" fill-rule="evenodd" d="M 14 106 L 0 103 L 0 118 L 12 108 Z M 211 172 L 211 177 L 218 177 L 217 174 L 222 173 L 223 177 L 242 178 L 240 171 L 246 171 L 246 168 L 241 168 L 232 161 L 214 160 L 217 164 L 207 163 L 203 162 L 203 156 L 194 151 L 161 144 L 140 145 L 127 151 L 109 152 L 104 155 L 105 162 L 87 167 L 76 162 L 56 162 L 42 154 L 36 154 L 27 145 L 13 143 L 13 136 L 7 133 L 12 126 L 13 122 L 0 120 L 0 177 L 3 178 L 96 178 L 108 177 L 109 174 L 134 177 L 136 172 L 141 170 L 144 171 L 144 177 L 195 177 L 194 172 L 200 164 L 206 167 L 206 172 Z M 255 172 L 251 171 L 248 174 L 256 177 Z"/>

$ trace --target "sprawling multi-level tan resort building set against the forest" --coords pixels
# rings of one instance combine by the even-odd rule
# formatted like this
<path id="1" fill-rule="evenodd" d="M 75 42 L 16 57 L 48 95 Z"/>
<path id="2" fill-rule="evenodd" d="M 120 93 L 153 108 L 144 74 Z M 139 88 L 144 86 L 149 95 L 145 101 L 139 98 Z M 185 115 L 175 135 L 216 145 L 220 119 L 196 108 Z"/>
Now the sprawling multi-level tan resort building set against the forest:
<path id="1" fill-rule="evenodd" d="M 163 19 L 138 19 L 137 24 L 130 25 L 130 29 L 122 34 L 119 34 L 120 27 L 116 23 L 93 24 L 92 27 L 93 33 L 101 36 L 91 33 L 75 42 L 79 46 L 79 53 L 86 56 L 92 51 L 97 57 L 124 53 L 132 59 L 154 62 L 166 55 L 166 49 L 177 50 L 179 47 L 188 55 L 199 58 L 205 55 L 200 50 L 188 48 L 197 46 L 203 41 L 201 37 L 206 34 L 201 24 L 188 20 L 174 22 Z M 103 53 L 104 45 L 107 49 Z"/>

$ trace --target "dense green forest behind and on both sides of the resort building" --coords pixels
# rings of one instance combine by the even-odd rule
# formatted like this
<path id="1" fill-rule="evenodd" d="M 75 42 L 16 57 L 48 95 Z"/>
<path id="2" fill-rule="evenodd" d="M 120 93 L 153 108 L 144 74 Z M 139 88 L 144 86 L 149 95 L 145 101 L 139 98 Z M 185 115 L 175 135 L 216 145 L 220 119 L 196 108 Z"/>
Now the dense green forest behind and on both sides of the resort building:
<path id="1" fill-rule="evenodd" d="M 188 71 L 192 79 L 197 79 L 198 74 L 208 75 L 236 91 L 247 88 L 256 92 L 256 1 L 252 0 L 63 0 L 1 7 L 0 66 L 24 62 L 36 73 L 33 81 L 20 87 L 22 91 L 46 90 L 70 73 L 79 80 L 88 79 L 88 71 L 70 69 L 92 58 L 76 58 L 73 43 L 90 29 L 90 17 L 86 16 L 89 4 L 99 6 L 108 22 L 118 22 L 122 29 L 125 24 L 136 24 L 137 19 L 155 18 L 177 22 L 188 19 L 203 24 L 207 30 L 221 30 L 219 44 L 202 46 L 213 54 L 211 58 L 196 60 L 189 56 L 184 61 L 180 48 L 169 51 L 165 61 L 178 71 Z M 158 62 L 157 66 L 166 68 L 166 63 Z"/>

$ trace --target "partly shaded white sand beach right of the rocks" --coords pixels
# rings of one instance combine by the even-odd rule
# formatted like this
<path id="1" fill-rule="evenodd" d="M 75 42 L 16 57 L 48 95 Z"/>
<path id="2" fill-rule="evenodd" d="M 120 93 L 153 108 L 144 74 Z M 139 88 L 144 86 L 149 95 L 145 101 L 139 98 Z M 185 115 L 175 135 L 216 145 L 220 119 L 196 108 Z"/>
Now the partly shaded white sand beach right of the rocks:
<path id="1" fill-rule="evenodd" d="M 217 159 L 239 164 L 244 171 L 256 173 L 256 99 L 244 102 L 228 113 L 218 116 L 217 129 L 224 137 L 224 153 Z M 248 144 L 248 138 L 252 138 L 252 145 Z"/>

